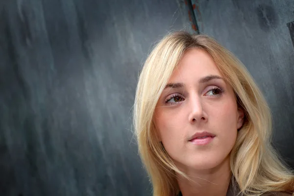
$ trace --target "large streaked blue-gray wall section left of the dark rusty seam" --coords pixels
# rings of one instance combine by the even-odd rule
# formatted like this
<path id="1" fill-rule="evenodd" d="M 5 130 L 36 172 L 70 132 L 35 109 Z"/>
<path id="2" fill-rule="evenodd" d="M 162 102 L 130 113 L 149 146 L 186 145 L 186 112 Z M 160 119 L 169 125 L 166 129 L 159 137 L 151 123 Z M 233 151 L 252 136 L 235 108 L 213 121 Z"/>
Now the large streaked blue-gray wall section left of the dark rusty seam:
<path id="1" fill-rule="evenodd" d="M 175 0 L 0 1 L 0 195 L 150 195 L 135 86 L 151 45 L 182 28 Z"/>

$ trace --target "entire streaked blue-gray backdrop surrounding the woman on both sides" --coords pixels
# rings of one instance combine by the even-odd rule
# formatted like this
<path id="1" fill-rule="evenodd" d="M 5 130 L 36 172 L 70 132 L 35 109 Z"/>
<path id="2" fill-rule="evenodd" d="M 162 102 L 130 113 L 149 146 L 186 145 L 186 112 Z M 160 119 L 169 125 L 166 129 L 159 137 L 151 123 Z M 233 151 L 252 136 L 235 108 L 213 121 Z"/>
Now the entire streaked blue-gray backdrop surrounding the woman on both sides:
<path id="1" fill-rule="evenodd" d="M 294 0 L 0 0 L 0 196 L 150 196 L 132 106 L 174 30 L 241 59 L 294 168 Z"/>

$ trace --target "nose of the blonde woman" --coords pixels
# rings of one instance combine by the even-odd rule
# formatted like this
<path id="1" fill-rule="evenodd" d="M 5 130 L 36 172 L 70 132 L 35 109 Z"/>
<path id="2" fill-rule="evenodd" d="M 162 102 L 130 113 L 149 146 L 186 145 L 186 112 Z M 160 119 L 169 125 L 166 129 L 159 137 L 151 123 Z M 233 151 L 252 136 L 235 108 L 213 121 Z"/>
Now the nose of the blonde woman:
<path id="1" fill-rule="evenodd" d="M 196 123 L 200 121 L 207 121 L 207 114 L 203 110 L 202 101 L 198 96 L 193 96 L 189 100 L 189 122 Z"/>

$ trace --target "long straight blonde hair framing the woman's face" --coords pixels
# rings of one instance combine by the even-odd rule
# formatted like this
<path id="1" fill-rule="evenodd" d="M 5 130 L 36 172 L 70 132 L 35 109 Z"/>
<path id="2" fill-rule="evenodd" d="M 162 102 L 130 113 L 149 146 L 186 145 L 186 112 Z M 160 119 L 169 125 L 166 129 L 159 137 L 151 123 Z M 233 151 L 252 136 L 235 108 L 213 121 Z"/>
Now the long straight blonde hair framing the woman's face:
<path id="1" fill-rule="evenodd" d="M 153 122 L 155 107 L 178 62 L 188 49 L 203 49 L 232 86 L 245 122 L 231 151 L 232 183 L 240 195 L 294 190 L 294 175 L 271 146 L 271 114 L 265 98 L 245 66 L 207 35 L 180 31 L 167 35 L 148 56 L 136 89 L 133 121 L 141 159 L 153 185 L 153 196 L 179 193 L 179 171 L 160 143 Z"/>

